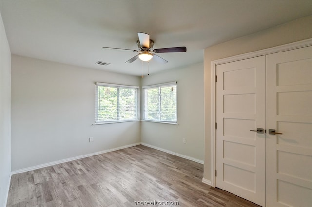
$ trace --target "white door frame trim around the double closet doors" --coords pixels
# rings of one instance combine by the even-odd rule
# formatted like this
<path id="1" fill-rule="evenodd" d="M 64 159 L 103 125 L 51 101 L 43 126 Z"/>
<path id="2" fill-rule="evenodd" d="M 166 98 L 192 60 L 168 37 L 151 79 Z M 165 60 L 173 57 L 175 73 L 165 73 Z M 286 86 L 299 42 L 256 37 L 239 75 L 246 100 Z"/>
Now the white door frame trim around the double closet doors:
<path id="1" fill-rule="evenodd" d="M 232 57 L 222 58 L 211 62 L 211 186 L 216 187 L 216 67 L 217 65 L 230 63 L 238 60 L 273 54 L 277 52 L 289 51 L 297 48 L 312 46 L 312 38 L 305 39 L 293 43 L 288 43 L 268 49 L 263 49 L 255 52 L 235 55 Z M 203 178 L 203 182 L 207 181 Z"/>

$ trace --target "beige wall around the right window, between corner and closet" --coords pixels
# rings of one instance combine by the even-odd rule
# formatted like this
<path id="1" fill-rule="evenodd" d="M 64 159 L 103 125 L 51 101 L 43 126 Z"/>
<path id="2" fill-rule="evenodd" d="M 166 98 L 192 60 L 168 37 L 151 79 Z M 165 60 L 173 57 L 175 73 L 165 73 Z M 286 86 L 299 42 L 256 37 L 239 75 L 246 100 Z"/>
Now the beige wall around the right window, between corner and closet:
<path id="1" fill-rule="evenodd" d="M 151 74 L 142 86 L 177 81 L 178 125 L 141 121 L 141 141 L 198 162 L 204 159 L 203 63 Z M 183 144 L 186 138 L 186 144 Z"/>

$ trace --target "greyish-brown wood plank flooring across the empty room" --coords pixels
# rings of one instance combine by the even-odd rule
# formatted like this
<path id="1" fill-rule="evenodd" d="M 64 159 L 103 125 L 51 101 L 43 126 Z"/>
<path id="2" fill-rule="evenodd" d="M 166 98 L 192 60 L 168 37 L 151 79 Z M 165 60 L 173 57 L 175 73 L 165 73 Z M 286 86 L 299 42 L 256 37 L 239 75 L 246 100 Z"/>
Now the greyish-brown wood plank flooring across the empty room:
<path id="1" fill-rule="evenodd" d="M 202 176 L 202 164 L 138 145 L 12 175 L 7 207 L 258 207 Z"/>

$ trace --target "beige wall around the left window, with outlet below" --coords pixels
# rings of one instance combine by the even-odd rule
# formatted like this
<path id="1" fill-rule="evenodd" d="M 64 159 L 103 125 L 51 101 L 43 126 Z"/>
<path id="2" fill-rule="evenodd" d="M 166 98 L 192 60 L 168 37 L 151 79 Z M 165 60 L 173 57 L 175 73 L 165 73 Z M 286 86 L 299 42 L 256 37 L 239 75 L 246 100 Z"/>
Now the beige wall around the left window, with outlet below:
<path id="1" fill-rule="evenodd" d="M 141 141 L 140 121 L 92 125 L 95 82 L 140 78 L 12 55 L 12 171 Z"/>

